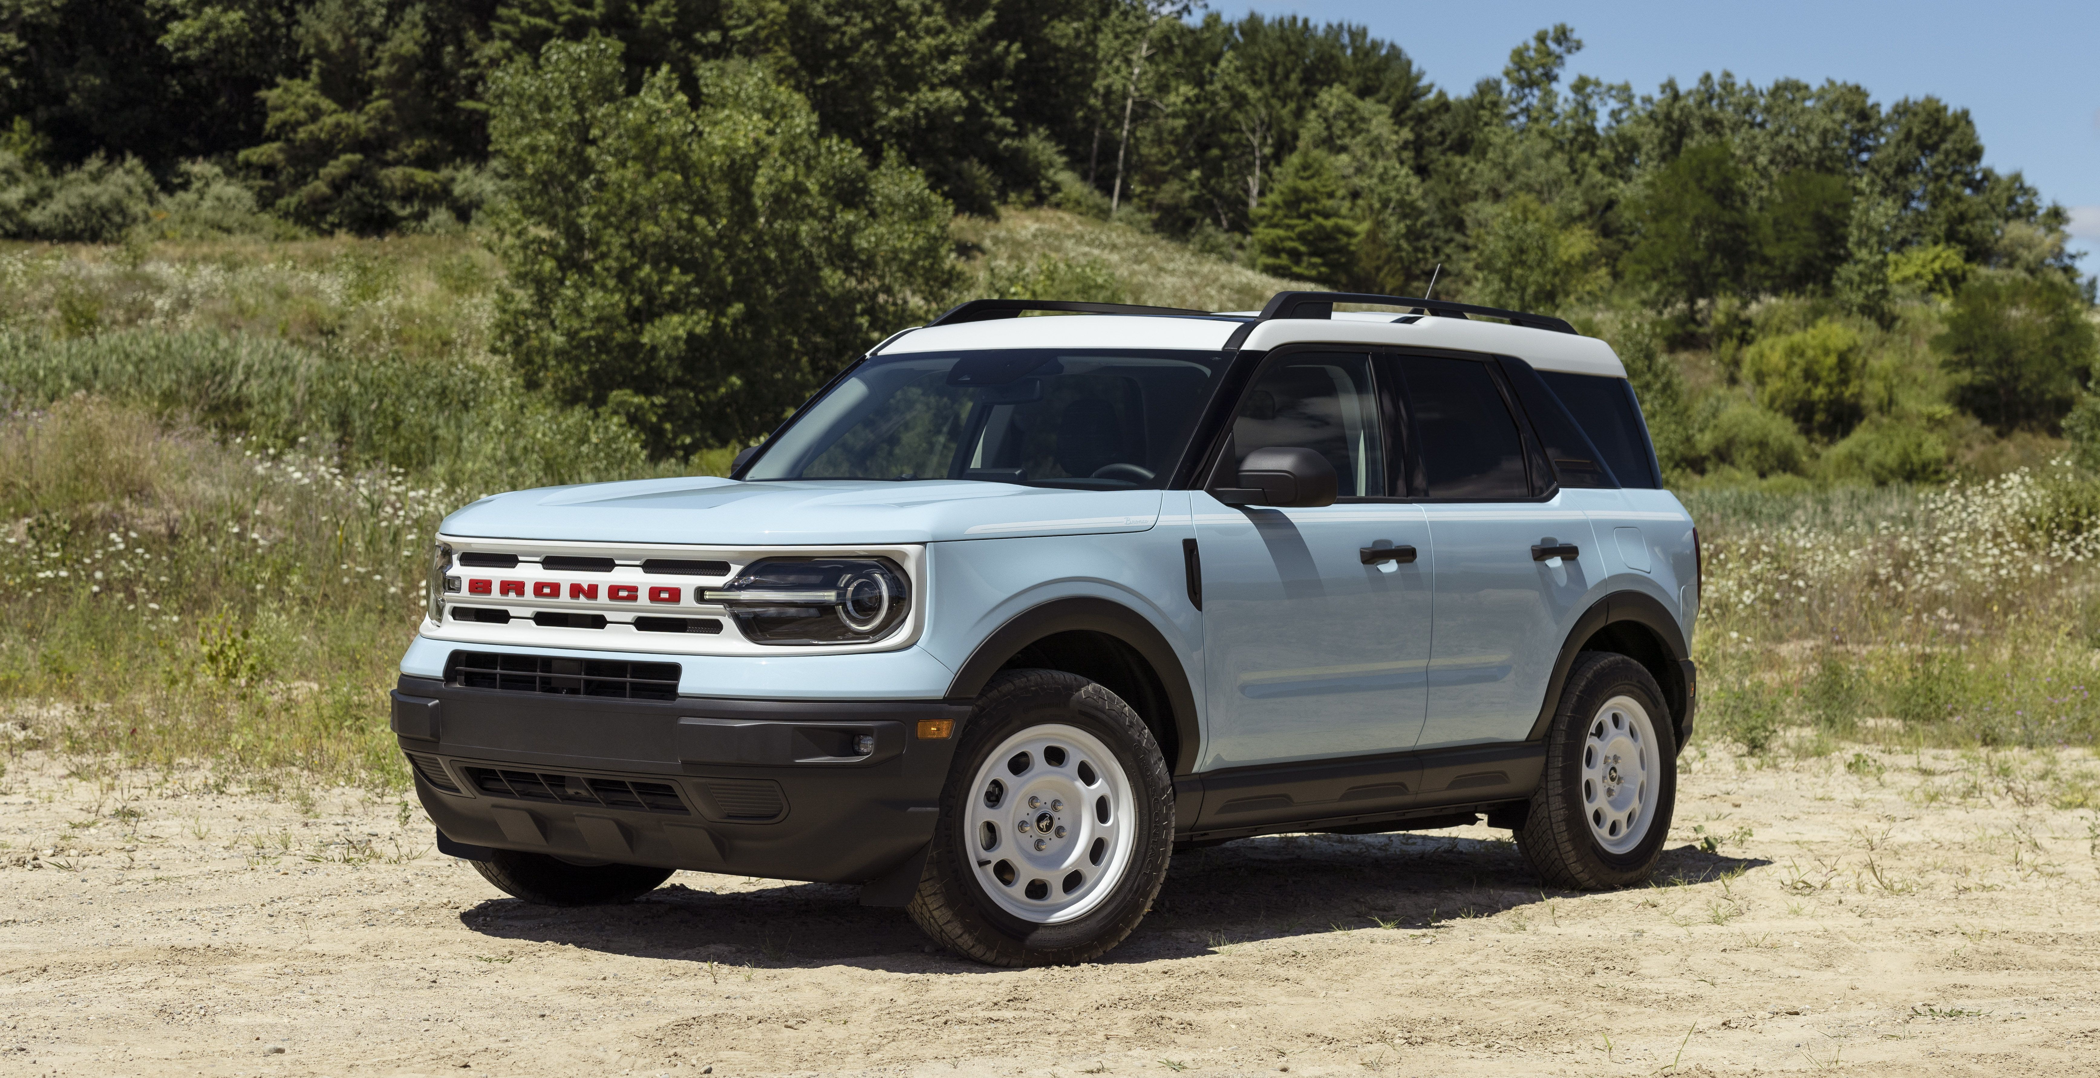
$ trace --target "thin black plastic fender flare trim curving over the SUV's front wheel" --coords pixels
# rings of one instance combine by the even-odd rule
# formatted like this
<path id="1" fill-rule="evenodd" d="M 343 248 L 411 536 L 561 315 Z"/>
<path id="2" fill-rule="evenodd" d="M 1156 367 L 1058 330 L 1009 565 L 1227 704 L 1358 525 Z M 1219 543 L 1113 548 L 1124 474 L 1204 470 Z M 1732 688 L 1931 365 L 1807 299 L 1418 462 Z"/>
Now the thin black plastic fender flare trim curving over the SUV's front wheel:
<path id="1" fill-rule="evenodd" d="M 1021 654 L 1023 648 L 1071 631 L 1094 631 L 1115 638 L 1153 667 L 1153 675 L 1159 677 L 1159 688 L 1163 690 L 1166 719 L 1174 726 L 1176 751 L 1168 763 L 1174 774 L 1193 772 L 1203 736 L 1197 724 L 1195 690 L 1189 686 L 1189 671 L 1182 667 L 1180 656 L 1174 654 L 1168 638 L 1144 615 L 1119 602 L 1065 598 L 1014 615 L 1006 625 L 987 635 L 970 652 L 962 669 L 956 671 L 956 680 L 947 686 L 947 703 L 966 705 L 974 700 L 985 690 L 985 682 L 1012 656 Z"/>

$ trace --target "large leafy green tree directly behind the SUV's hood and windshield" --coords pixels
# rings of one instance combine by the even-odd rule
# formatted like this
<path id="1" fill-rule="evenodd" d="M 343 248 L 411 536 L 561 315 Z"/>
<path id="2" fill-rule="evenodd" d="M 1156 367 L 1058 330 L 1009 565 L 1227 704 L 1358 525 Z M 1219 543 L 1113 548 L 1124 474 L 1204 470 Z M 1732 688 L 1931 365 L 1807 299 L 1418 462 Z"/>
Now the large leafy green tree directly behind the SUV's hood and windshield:
<path id="1" fill-rule="evenodd" d="M 554 42 L 489 86 L 506 187 L 498 342 L 527 384 L 624 415 L 651 453 L 752 440 L 958 283 L 949 208 L 869 168 L 743 61 L 622 88 L 620 46 Z"/>

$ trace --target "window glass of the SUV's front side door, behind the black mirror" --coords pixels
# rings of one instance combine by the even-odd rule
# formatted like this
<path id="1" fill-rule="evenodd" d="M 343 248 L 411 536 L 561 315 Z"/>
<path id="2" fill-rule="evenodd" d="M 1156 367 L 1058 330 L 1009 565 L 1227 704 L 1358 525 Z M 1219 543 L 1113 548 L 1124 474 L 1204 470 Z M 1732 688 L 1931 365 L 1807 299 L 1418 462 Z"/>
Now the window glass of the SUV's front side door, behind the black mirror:
<path id="1" fill-rule="evenodd" d="M 1384 495 L 1384 436 L 1378 430 L 1371 357 L 1296 352 L 1270 365 L 1239 403 L 1233 447 L 1241 461 L 1256 449 L 1310 449 L 1334 466 L 1342 497 Z"/>

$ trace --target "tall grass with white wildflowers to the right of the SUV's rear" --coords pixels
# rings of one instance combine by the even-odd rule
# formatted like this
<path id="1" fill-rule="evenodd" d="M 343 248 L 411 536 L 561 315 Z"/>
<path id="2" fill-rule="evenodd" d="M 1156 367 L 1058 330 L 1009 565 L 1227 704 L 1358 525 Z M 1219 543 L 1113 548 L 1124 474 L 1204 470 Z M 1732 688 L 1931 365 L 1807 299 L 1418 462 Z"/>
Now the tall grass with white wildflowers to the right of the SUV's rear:
<path id="1" fill-rule="evenodd" d="M 1703 728 L 1749 747 L 2100 742 L 2100 480 L 1695 491 Z"/>

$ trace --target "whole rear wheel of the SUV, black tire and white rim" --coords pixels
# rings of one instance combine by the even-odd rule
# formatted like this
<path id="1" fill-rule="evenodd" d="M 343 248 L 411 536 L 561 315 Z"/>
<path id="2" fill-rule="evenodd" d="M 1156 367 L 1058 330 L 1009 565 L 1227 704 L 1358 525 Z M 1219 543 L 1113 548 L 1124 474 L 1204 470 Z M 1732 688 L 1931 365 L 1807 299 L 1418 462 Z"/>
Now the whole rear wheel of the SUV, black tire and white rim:
<path id="1" fill-rule="evenodd" d="M 1558 887 L 1640 883 L 1670 837 L 1676 795 L 1678 747 L 1655 677 L 1623 654 L 1579 654 L 1516 833 L 1525 860 Z"/>

